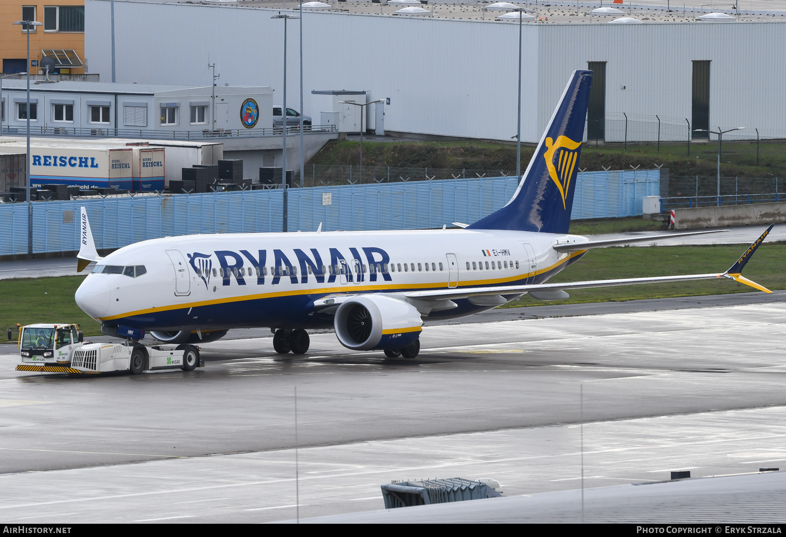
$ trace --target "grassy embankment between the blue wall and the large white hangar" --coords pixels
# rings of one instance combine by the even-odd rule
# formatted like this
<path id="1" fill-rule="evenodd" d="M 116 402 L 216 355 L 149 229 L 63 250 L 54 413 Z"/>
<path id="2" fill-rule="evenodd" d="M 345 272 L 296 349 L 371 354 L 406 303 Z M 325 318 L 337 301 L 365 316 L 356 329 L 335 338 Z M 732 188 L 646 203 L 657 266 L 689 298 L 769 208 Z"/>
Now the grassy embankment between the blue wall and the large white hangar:
<path id="1" fill-rule="evenodd" d="M 522 146 L 522 169 L 532 157 L 534 147 Z M 641 170 L 663 166 L 672 176 L 714 176 L 717 170 L 718 144 L 692 142 L 688 145 L 629 143 L 602 144 L 593 141 L 582 146 L 578 166 L 582 170 Z M 330 141 L 314 155 L 310 164 L 356 165 L 360 161 L 360 142 Z M 401 166 L 443 168 L 454 170 L 515 170 L 516 145 L 482 141 L 401 141 L 364 142 L 364 166 Z M 786 142 L 766 141 L 759 147 L 756 164 L 756 143 L 727 141 L 723 144 L 721 174 L 724 177 L 784 177 L 786 175 Z"/>

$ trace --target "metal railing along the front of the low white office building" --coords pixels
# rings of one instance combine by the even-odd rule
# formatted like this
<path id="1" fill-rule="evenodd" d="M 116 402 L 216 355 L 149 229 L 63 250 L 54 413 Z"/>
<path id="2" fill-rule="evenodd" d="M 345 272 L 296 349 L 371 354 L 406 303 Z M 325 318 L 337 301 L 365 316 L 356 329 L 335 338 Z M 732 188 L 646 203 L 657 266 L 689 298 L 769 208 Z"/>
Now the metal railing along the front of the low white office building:
<path id="1" fill-rule="evenodd" d="M 335 125 L 307 125 L 303 133 L 335 133 Z M 2 134 L 24 136 L 27 129 L 24 126 L 2 126 Z M 299 134 L 299 126 L 287 126 L 287 134 Z M 112 138 L 142 138 L 150 140 L 212 140 L 226 138 L 258 138 L 274 137 L 283 134 L 281 127 L 265 127 L 263 129 L 203 129 L 203 130 L 152 130 L 130 129 L 123 127 L 115 129 L 109 126 L 101 127 L 68 127 L 68 126 L 31 126 L 31 136 L 52 137 L 112 137 Z"/>

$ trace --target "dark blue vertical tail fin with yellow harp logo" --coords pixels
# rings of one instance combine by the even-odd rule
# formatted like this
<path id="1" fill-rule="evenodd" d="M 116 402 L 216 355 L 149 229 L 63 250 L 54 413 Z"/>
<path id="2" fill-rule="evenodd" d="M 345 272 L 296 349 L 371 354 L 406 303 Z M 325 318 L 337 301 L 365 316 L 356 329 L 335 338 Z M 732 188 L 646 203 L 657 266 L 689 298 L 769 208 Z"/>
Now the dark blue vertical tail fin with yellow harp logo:
<path id="1" fill-rule="evenodd" d="M 468 229 L 567 233 L 591 84 L 592 71 L 573 71 L 516 193 Z"/>

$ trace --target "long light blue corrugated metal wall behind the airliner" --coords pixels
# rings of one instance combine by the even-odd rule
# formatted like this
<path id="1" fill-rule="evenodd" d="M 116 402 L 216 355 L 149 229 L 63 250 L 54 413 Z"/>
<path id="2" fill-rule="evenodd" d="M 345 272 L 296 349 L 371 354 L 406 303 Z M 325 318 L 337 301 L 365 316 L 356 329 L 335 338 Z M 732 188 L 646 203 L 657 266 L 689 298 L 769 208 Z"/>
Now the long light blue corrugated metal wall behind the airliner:
<path id="1" fill-rule="evenodd" d="M 574 219 L 641 214 L 641 197 L 659 192 L 659 170 L 578 174 Z M 516 177 L 446 179 L 389 184 L 292 188 L 290 231 L 429 229 L 472 223 L 498 210 L 516 192 Z M 322 193 L 332 204 L 322 205 Z M 281 190 L 33 203 L 33 251 L 79 250 L 79 207 L 87 208 L 98 249 L 197 233 L 280 232 Z M 64 224 L 64 212 L 74 211 Z M 28 251 L 28 206 L 0 205 L 0 255 Z"/>

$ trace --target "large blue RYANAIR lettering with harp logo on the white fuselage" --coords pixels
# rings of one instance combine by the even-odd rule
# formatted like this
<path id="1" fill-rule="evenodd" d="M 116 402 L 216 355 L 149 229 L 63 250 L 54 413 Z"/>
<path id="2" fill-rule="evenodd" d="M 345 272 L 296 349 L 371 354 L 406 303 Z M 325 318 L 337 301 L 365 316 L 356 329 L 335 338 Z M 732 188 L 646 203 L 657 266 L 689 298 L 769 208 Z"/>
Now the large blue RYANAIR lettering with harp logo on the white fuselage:
<path id="1" fill-rule="evenodd" d="M 338 276 L 346 277 L 347 282 L 354 279 L 358 282 L 365 279 L 376 282 L 377 277 L 380 281 L 392 280 L 387 272 L 390 256 L 385 250 L 377 247 L 350 247 L 347 250 L 349 254 L 345 255 L 346 252 L 342 253 L 338 248 L 329 248 L 329 254 L 323 258 L 316 248 L 309 248 L 308 251 L 295 248 L 294 259 L 278 249 L 270 252 L 214 250 L 211 253 L 193 252 L 187 255 L 194 272 L 208 288 L 211 278 L 222 279 L 222 285 L 230 285 L 233 278 L 238 285 L 247 285 L 247 279 L 248 283 L 256 279 L 257 285 L 262 285 L 266 276 L 270 276 L 273 285 L 280 283 L 282 277 L 288 278 L 291 283 L 308 283 L 309 276 L 313 276 L 317 283 L 332 283 Z M 253 268 L 248 268 L 246 272 L 244 267 L 248 264 Z"/>

